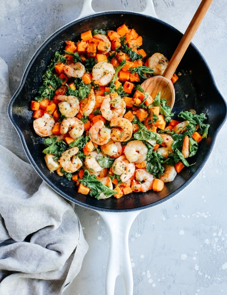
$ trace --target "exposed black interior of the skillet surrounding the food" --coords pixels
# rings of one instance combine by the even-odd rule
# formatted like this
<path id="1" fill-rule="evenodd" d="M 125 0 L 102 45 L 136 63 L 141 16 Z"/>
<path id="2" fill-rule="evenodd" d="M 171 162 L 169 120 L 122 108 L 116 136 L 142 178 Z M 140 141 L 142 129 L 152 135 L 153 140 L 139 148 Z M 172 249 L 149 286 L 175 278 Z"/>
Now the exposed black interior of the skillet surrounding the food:
<path id="1" fill-rule="evenodd" d="M 155 18 L 125 11 L 98 13 L 76 20 L 59 29 L 41 45 L 32 57 L 21 85 L 9 104 L 10 120 L 19 133 L 22 145 L 36 172 L 44 181 L 64 198 L 79 205 L 101 211 L 131 211 L 151 207 L 163 202 L 181 191 L 201 170 L 205 164 L 215 137 L 226 119 L 226 103 L 219 93 L 206 61 L 192 44 L 186 51 L 176 73 L 180 72 L 174 84 L 176 101 L 174 113 L 194 109 L 197 113 L 206 113 L 210 124 L 208 138 L 199 144 L 199 150 L 190 163 L 173 182 L 165 184 L 161 192 L 132 193 L 120 199 L 114 197 L 96 200 L 90 196 L 77 193 L 76 185 L 56 173 L 50 173 L 44 162 L 43 139 L 33 129 L 31 100 L 35 97 L 42 82 L 42 75 L 51 62 L 55 51 L 63 50 L 66 40 L 77 41 L 80 34 L 87 30 L 112 29 L 125 23 L 143 36 L 143 48 L 148 56 L 155 52 L 164 54 L 168 59 L 172 56 L 182 34 L 175 28 Z"/>

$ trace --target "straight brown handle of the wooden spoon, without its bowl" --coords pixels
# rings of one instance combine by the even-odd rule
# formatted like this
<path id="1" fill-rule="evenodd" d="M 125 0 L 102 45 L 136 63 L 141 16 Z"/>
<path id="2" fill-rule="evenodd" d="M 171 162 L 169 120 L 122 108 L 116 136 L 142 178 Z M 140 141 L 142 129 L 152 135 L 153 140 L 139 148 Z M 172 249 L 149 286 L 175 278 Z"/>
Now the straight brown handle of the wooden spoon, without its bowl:
<path id="1" fill-rule="evenodd" d="M 193 16 L 188 28 L 186 29 L 180 43 L 178 44 L 173 56 L 171 57 L 169 64 L 166 67 L 163 77 L 170 80 L 173 76 L 176 68 L 178 67 L 185 51 L 187 50 L 192 38 L 198 29 L 202 19 L 204 18 L 206 11 L 208 10 L 213 0 L 202 0 L 195 15 Z"/>

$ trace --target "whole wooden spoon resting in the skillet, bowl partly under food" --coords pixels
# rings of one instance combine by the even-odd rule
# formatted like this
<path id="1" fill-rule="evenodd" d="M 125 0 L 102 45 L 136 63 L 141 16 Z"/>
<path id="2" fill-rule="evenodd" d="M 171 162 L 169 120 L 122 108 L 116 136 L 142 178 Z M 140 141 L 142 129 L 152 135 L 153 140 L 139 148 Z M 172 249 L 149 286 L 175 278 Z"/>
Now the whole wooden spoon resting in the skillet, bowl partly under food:
<path id="1" fill-rule="evenodd" d="M 167 104 L 171 107 L 171 109 L 173 108 L 175 102 L 175 90 L 170 79 L 176 71 L 176 68 L 185 54 L 185 51 L 187 50 L 212 1 L 213 0 L 202 0 L 200 3 L 163 75 L 150 77 L 141 84 L 143 90 L 145 92 L 149 92 L 153 98 L 161 91 L 161 97 L 167 100 Z"/>

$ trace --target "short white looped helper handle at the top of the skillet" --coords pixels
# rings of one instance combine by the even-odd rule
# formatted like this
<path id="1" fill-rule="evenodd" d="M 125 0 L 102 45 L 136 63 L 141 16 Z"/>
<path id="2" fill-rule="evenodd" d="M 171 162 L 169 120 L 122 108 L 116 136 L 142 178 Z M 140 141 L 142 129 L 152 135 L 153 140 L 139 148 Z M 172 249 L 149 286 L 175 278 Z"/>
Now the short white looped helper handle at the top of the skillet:
<path id="1" fill-rule="evenodd" d="M 81 10 L 81 14 L 78 17 L 78 19 L 83 18 L 84 16 L 87 16 L 87 15 L 93 15 L 93 14 L 96 13 L 93 10 L 93 8 L 91 7 L 91 2 L 92 2 L 92 0 L 84 0 L 84 4 L 83 4 L 82 10 Z M 152 0 L 146 0 L 144 10 L 141 11 L 141 12 L 138 12 L 138 13 L 146 14 L 146 15 L 153 16 L 154 18 L 158 18 L 156 13 L 155 13 L 155 10 L 154 10 L 154 5 L 153 5 Z"/>

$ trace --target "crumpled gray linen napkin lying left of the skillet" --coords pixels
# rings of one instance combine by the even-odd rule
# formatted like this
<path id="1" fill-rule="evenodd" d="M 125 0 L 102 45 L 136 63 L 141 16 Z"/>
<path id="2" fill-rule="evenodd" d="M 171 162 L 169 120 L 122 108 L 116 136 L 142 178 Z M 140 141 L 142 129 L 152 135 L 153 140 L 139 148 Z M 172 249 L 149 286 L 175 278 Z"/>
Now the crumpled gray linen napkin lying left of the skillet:
<path id="1" fill-rule="evenodd" d="M 0 294 L 59 295 L 88 245 L 72 206 L 28 163 L 8 119 L 10 98 L 0 57 Z"/>

